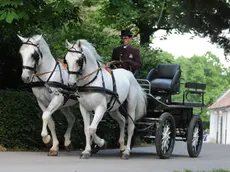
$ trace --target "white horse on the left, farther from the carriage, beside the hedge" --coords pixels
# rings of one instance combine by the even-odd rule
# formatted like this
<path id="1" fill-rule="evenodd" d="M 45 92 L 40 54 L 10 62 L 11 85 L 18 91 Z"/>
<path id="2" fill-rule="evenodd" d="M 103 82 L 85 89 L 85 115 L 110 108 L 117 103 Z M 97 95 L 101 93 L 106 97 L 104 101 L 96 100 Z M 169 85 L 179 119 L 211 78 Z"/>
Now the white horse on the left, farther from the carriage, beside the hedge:
<path id="1" fill-rule="evenodd" d="M 77 101 L 69 99 L 66 102 L 64 96 L 57 91 L 57 88 L 44 85 L 47 81 L 56 81 L 67 85 L 68 73 L 66 69 L 54 59 L 43 37 L 41 35 L 35 35 L 31 38 L 24 38 L 19 35 L 18 37 L 23 43 L 19 50 L 23 61 L 21 77 L 25 83 L 37 82 L 40 85 L 32 87 L 32 91 L 37 98 L 38 105 L 43 111 L 41 136 L 46 145 L 51 144 L 53 141 L 48 155 L 56 156 L 58 155 L 59 141 L 55 132 L 55 123 L 51 115 L 60 109 L 67 118 L 68 128 L 64 135 L 64 145 L 67 150 L 69 150 L 71 146 L 71 131 L 75 122 L 75 116 L 69 106 L 73 106 Z M 34 76 L 35 73 L 41 75 Z M 48 134 L 47 125 L 52 138 Z"/>

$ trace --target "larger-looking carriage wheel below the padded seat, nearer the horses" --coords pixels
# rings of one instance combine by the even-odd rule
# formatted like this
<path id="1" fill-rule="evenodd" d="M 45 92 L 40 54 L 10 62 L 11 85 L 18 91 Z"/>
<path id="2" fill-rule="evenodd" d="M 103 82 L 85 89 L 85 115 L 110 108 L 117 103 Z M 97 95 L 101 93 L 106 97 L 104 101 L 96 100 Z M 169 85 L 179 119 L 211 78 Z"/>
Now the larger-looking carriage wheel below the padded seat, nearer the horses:
<path id="1" fill-rule="evenodd" d="M 160 121 L 156 130 L 156 150 L 161 159 L 167 159 L 171 156 L 176 137 L 176 124 L 173 116 L 164 112 L 160 116 Z"/>

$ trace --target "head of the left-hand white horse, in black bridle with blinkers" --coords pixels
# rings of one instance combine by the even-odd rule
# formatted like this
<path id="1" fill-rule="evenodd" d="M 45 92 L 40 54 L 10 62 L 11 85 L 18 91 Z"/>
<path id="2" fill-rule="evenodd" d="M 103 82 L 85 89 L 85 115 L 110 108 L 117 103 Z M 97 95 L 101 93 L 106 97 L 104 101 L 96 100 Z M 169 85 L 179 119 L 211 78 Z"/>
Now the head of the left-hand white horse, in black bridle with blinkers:
<path id="1" fill-rule="evenodd" d="M 24 38 L 18 35 L 22 41 L 22 46 L 19 53 L 22 57 L 22 80 L 25 83 L 32 81 L 32 76 L 36 73 L 38 66 L 41 64 L 42 52 L 39 48 L 39 41 L 41 40 L 41 35 L 35 35 L 31 38 Z"/>

